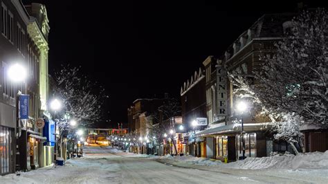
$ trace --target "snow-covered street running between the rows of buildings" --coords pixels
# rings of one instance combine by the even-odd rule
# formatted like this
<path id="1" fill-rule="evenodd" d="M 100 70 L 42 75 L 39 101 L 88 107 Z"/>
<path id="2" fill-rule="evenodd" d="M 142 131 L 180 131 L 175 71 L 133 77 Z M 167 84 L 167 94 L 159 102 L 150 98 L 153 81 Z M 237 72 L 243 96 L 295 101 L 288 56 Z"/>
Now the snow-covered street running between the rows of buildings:
<path id="1" fill-rule="evenodd" d="M 174 159 L 122 153 L 111 147 L 84 147 L 83 158 L 21 176 L 0 176 L 0 183 L 325 183 L 327 169 L 234 169 L 192 165 Z M 326 174 L 325 174 L 326 173 Z"/>

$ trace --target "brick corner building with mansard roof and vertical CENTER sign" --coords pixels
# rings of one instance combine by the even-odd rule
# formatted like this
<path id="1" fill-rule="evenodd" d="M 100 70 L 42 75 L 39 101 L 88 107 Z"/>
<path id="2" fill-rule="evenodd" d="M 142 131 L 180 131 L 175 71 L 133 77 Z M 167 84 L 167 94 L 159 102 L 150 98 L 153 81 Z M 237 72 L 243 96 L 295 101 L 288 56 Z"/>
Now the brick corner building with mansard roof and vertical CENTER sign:
<path id="1" fill-rule="evenodd" d="M 197 133 L 206 140 L 206 148 L 212 154 L 208 158 L 233 161 L 242 158 L 242 128 L 244 121 L 245 156 L 268 156 L 279 147 L 268 134 L 267 117 L 259 115 L 254 109 L 251 113 L 239 116 L 236 104 L 239 99 L 233 95 L 235 86 L 228 80 L 228 72 L 251 75 L 259 69 L 259 56 L 275 51 L 274 43 L 284 35 L 284 25 L 293 15 L 264 15 L 253 26 L 246 30 L 228 47 L 226 53 L 213 59 L 208 57 L 203 65 L 206 67 L 206 102 L 208 108 L 208 128 Z M 215 61 L 216 60 L 216 61 Z M 212 69 L 215 66 L 215 70 Z M 208 152 L 209 150 L 207 150 Z M 285 150 L 286 151 L 286 150 Z M 289 150 L 291 151 L 291 150 Z"/>

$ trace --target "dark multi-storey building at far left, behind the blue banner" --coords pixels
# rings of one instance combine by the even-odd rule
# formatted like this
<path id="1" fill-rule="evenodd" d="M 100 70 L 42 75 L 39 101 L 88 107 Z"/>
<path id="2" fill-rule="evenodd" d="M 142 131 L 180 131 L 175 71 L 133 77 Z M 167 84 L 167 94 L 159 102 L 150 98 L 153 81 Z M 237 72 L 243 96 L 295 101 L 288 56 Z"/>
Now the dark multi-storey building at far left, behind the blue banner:
<path id="1" fill-rule="evenodd" d="M 42 110 L 40 100 L 40 55 L 38 44 L 28 26 L 39 23 L 21 1 L 2 0 L 0 15 L 0 174 L 42 167 L 42 130 L 35 120 Z M 44 8 L 45 9 L 45 8 Z M 48 24 L 48 22 L 47 22 Z M 46 46 L 48 44 L 46 43 Z M 26 68 L 24 82 L 15 83 L 8 77 L 8 68 L 20 64 Z M 48 66 L 46 66 L 47 68 Z M 46 76 L 47 77 L 47 76 Z M 28 95 L 28 118 L 17 122 L 17 93 Z M 17 133 L 17 136 L 15 134 Z M 18 150 L 16 147 L 18 146 Z M 19 152 L 19 155 L 17 154 Z"/>

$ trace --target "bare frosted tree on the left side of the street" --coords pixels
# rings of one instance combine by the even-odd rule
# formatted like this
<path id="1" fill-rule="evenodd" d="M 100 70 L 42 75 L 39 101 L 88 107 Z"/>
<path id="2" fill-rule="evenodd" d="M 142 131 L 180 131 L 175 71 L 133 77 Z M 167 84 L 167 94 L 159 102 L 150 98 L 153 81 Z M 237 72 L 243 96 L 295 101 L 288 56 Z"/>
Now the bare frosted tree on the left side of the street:
<path id="1" fill-rule="evenodd" d="M 53 96 L 62 100 L 60 117 L 69 114 L 79 126 L 101 120 L 102 103 L 108 96 L 102 86 L 82 75 L 80 68 L 62 66 L 52 78 L 52 89 Z"/>

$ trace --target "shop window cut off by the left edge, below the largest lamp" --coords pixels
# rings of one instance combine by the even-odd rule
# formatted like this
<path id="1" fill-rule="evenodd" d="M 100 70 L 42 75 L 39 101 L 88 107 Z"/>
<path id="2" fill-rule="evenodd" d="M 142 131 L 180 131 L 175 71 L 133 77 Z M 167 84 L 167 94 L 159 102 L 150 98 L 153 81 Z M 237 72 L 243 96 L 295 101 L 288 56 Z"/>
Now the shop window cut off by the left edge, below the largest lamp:
<path id="1" fill-rule="evenodd" d="M 0 175 L 14 172 L 15 129 L 0 126 Z"/>

